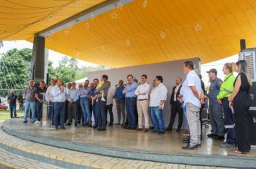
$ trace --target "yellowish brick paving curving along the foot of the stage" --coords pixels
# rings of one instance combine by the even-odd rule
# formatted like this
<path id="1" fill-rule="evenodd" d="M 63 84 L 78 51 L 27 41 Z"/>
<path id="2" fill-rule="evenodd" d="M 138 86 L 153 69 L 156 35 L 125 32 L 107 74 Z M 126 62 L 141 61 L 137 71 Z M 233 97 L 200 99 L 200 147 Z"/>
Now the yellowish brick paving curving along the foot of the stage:
<path id="1" fill-rule="evenodd" d="M 156 168 L 170 168 L 170 169 L 212 169 L 215 167 L 206 166 L 191 166 L 191 165 L 178 165 L 168 163 L 155 163 L 143 160 L 127 160 L 122 158 L 111 158 L 103 155 L 93 155 L 89 153 L 80 153 L 73 150 L 63 148 L 55 148 L 49 145 L 42 145 L 33 143 L 27 140 L 22 140 L 12 135 L 7 135 L 4 131 L 0 130 L 0 144 L 8 146 L 9 148 L 16 148 L 26 153 L 35 155 L 42 155 L 49 159 L 60 160 L 63 162 L 73 163 L 76 165 L 83 165 L 93 168 L 111 168 L 111 169 L 156 169 Z M 58 168 L 54 165 L 48 165 L 40 161 L 23 158 L 19 155 L 14 155 L 6 150 L 0 150 L 0 164 L 10 168 Z M 1 166 L 1 165 L 0 165 Z M 216 168 L 221 169 L 221 168 Z"/>

